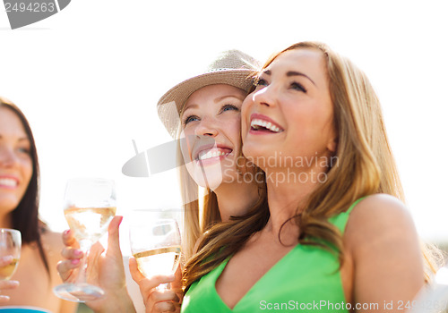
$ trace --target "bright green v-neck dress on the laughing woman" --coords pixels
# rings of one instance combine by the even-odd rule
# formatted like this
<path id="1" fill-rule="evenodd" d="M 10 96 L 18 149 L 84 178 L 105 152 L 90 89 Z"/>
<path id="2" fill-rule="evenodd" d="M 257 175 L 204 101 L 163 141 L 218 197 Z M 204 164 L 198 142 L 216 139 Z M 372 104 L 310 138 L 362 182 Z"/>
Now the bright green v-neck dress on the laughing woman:
<path id="1" fill-rule="evenodd" d="M 343 233 L 349 213 L 332 216 L 329 221 Z M 182 313 L 254 312 L 348 312 L 340 280 L 339 260 L 334 253 L 319 247 L 297 244 L 265 273 L 233 309 L 220 299 L 215 284 L 228 259 L 186 292 Z"/>

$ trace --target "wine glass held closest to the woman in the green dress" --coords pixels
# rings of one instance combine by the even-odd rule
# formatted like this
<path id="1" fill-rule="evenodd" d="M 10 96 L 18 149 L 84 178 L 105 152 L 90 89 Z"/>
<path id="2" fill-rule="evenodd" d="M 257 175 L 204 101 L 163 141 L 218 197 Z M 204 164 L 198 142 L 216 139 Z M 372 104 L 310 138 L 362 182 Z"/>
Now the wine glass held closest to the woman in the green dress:
<path id="1" fill-rule="evenodd" d="M 131 251 L 142 275 L 172 275 L 180 260 L 180 233 L 175 219 L 157 218 L 151 211 L 134 213 L 129 226 Z M 168 289 L 162 283 L 158 289 Z"/>

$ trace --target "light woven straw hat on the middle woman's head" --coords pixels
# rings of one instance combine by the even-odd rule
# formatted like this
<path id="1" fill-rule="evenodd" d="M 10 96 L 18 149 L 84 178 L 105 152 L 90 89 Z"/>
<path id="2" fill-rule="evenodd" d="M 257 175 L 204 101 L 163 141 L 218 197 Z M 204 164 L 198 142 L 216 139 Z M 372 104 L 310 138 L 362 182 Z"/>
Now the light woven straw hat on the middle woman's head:
<path id="1" fill-rule="evenodd" d="M 182 81 L 160 97 L 157 104 L 160 121 L 169 134 L 176 138 L 180 125 L 179 114 L 186 99 L 194 91 L 215 84 L 227 84 L 249 91 L 253 86 L 252 76 L 259 68 L 260 63 L 257 60 L 239 50 L 222 52 L 205 72 Z"/>

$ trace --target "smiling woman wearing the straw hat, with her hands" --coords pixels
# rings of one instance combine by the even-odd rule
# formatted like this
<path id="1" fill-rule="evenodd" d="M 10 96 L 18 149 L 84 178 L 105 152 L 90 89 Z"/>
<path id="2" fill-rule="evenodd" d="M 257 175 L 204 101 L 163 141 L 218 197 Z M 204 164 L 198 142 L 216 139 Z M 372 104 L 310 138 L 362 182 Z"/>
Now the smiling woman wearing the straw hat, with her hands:
<path id="1" fill-rule="evenodd" d="M 240 110 L 248 90 L 253 87 L 252 78 L 257 66 L 256 60 L 249 55 L 237 50 L 226 51 L 211 63 L 206 72 L 177 84 L 159 99 L 160 120 L 171 136 L 179 139 L 179 157 L 185 164 L 180 167 L 185 203 L 185 259 L 193 255 L 195 242 L 211 225 L 226 222 L 230 216 L 245 216 L 251 207 L 258 210 L 266 205 L 263 173 L 254 165 L 248 165 L 241 155 Z M 206 189 L 201 218 L 198 186 Z M 117 224 L 112 222 L 111 225 L 111 233 L 116 233 Z M 63 255 L 67 260 L 58 266 L 63 279 L 79 266 L 76 259 L 80 258 L 76 254 L 73 237 L 65 234 L 64 241 L 67 248 Z M 112 247 L 116 244 L 112 243 Z M 109 263 L 108 266 L 116 268 L 117 265 Z M 141 287 L 147 311 L 178 307 L 174 291 L 162 294 L 155 290 L 159 283 L 172 282 L 174 276 L 145 278 L 133 258 L 130 268 L 134 280 Z M 117 277 L 114 279 L 117 281 Z M 105 290 L 108 286 L 117 285 L 107 280 L 108 277 L 104 282 L 102 277 L 99 278 L 99 284 Z M 117 294 L 116 288 L 109 293 Z M 125 292 L 120 295 L 126 296 Z M 162 301 L 157 302 L 160 297 Z M 116 309 L 114 301 L 107 298 L 88 305 L 98 311 Z M 129 301 L 126 302 L 129 309 Z M 124 303 L 121 301 L 120 305 Z"/>

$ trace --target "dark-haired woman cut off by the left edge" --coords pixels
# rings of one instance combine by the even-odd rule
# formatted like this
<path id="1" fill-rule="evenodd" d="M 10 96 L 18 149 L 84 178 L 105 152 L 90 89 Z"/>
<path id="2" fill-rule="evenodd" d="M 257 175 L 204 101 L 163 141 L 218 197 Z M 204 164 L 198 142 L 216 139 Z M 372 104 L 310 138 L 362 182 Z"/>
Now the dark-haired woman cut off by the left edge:
<path id="1" fill-rule="evenodd" d="M 13 279 L 20 286 L 2 293 L 8 306 L 73 312 L 74 303 L 59 300 L 53 287 L 60 234 L 39 219 L 39 162 L 36 145 L 22 111 L 0 97 L 0 227 L 22 233 L 22 256 Z M 6 298 L 4 298 L 6 299 Z M 4 304 L 3 304 L 4 305 Z"/>

